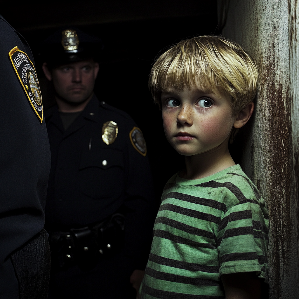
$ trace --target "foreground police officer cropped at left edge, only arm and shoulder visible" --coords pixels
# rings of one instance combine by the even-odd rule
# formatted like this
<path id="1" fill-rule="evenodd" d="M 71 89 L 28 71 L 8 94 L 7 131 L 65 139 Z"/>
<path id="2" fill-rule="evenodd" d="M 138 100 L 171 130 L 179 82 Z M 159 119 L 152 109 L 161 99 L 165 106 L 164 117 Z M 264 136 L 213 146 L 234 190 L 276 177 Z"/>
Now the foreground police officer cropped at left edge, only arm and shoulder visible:
<path id="1" fill-rule="evenodd" d="M 0 16 L 0 298 L 47 298 L 50 148 L 34 60 Z"/>

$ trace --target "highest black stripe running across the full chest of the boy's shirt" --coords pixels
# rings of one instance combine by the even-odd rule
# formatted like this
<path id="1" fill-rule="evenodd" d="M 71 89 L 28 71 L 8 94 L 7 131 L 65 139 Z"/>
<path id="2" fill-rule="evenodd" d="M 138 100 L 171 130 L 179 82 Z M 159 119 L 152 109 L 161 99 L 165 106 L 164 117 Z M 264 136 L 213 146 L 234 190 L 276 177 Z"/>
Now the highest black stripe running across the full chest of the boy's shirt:
<path id="1" fill-rule="evenodd" d="M 167 193 L 164 196 L 164 198 L 162 199 L 162 201 L 167 198 L 175 198 L 175 199 L 183 200 L 185 202 L 191 202 L 191 203 L 194 203 L 197 205 L 204 205 L 207 207 L 211 207 L 211 208 L 223 211 L 224 213 L 226 213 L 226 211 L 227 211 L 226 205 L 223 202 L 218 202 L 213 199 L 201 198 L 201 197 L 196 197 L 196 196 L 187 195 L 187 194 L 178 193 L 178 192 Z"/>

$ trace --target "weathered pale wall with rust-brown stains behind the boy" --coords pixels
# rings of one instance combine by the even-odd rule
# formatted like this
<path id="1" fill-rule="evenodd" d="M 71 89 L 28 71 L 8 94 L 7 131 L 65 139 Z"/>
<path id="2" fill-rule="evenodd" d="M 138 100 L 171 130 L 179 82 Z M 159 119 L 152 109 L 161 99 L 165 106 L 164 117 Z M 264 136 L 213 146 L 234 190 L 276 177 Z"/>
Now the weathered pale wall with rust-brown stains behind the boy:
<path id="1" fill-rule="evenodd" d="M 218 1 L 220 5 L 222 0 Z M 227 2 L 227 1 L 225 1 Z M 299 298 L 299 1 L 231 0 L 222 35 L 259 64 L 242 167 L 268 202 L 270 298 Z"/>

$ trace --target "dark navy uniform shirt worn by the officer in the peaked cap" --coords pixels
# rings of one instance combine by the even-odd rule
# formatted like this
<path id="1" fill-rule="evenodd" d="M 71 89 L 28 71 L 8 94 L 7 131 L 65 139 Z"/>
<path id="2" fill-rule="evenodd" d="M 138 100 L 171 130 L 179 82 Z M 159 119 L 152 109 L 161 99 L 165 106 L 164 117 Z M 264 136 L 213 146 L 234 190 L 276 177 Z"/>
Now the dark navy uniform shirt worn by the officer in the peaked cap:
<path id="1" fill-rule="evenodd" d="M 66 131 L 57 106 L 46 121 L 52 158 L 47 229 L 81 228 L 120 211 L 126 216 L 126 253 L 136 268 L 143 268 L 149 251 L 146 244 L 151 241 L 154 196 L 148 158 L 130 141 L 136 124 L 96 96 Z M 118 135 L 109 145 L 102 140 L 107 121 L 118 126 Z"/>

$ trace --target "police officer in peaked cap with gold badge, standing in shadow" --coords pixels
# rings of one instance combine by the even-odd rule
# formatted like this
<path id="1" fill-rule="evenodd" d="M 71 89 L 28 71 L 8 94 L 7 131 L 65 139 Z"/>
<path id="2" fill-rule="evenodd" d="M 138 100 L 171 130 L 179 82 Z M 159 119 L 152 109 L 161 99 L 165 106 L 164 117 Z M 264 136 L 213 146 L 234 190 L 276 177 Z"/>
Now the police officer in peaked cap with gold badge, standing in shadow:
<path id="1" fill-rule="evenodd" d="M 93 93 L 99 39 L 65 28 L 43 48 L 43 71 L 57 103 L 46 116 L 52 158 L 49 298 L 135 298 L 132 285 L 137 289 L 144 275 L 152 231 L 142 132 L 109 99 Z M 112 80 L 117 84 L 118 78 Z"/>

